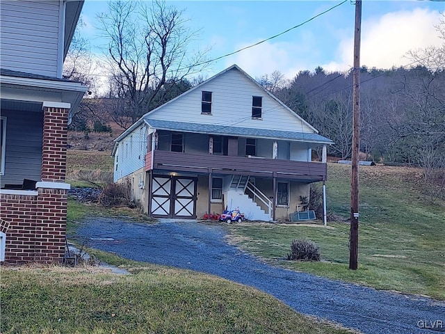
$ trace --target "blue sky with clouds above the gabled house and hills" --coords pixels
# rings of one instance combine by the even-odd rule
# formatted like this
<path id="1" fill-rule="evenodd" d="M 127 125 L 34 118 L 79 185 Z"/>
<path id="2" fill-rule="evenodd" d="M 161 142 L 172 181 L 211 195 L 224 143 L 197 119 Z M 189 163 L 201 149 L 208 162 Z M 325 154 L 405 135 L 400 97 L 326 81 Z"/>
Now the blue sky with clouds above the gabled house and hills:
<path id="1" fill-rule="evenodd" d="M 184 10 L 192 31 L 198 31 L 191 49 L 207 49 L 213 59 L 282 33 L 341 3 L 337 1 L 167 1 Z M 81 35 L 98 57 L 97 15 L 106 1 L 86 0 Z M 361 65 L 389 69 L 412 61 L 407 51 L 442 45 L 435 25 L 444 19 L 445 1 L 362 1 Z M 346 1 L 312 21 L 256 47 L 212 62 L 204 79 L 237 64 L 251 77 L 278 70 L 292 79 L 300 70 L 346 71 L 353 65 L 355 6 Z"/>

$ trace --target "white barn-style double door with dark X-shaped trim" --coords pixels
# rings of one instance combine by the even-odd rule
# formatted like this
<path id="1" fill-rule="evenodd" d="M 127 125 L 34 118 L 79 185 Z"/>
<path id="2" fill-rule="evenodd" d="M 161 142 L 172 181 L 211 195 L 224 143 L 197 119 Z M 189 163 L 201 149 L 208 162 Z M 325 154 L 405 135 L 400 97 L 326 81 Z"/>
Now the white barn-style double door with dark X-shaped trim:
<path id="1" fill-rule="evenodd" d="M 197 177 L 153 175 L 151 213 L 163 218 L 196 218 Z"/>

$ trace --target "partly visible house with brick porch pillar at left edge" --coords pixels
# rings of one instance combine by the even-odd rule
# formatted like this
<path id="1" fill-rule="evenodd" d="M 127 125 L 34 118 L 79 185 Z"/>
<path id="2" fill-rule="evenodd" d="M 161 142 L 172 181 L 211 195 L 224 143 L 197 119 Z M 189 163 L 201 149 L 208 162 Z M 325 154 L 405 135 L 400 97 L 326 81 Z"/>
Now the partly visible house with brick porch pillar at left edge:
<path id="1" fill-rule="evenodd" d="M 82 6 L 0 3 L 0 261 L 65 255 L 67 124 L 87 88 L 62 69 Z"/>

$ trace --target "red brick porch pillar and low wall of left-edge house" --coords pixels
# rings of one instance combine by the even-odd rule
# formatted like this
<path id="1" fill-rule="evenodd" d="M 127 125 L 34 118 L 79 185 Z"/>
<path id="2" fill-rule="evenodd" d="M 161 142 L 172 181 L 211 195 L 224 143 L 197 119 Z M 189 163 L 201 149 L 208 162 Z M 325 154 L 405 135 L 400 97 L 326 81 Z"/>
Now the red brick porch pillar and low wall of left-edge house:
<path id="1" fill-rule="evenodd" d="M 68 109 L 44 107 L 42 181 L 65 182 Z M 67 191 L 54 186 L 38 195 L 0 195 L 5 262 L 61 262 L 65 255 Z"/>

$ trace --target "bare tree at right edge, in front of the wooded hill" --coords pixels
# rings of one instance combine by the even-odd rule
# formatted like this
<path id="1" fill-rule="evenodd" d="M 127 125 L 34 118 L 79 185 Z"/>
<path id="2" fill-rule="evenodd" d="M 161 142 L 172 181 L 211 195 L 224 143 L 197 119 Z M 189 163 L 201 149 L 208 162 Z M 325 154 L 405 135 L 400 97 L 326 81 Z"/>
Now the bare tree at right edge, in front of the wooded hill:
<path id="1" fill-rule="evenodd" d="M 410 119 L 396 129 L 414 148 L 423 168 L 424 193 L 431 202 L 445 198 L 445 13 L 436 26 L 442 45 L 408 52 L 418 65 L 416 77 L 405 78 L 403 95 Z"/>

